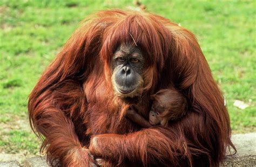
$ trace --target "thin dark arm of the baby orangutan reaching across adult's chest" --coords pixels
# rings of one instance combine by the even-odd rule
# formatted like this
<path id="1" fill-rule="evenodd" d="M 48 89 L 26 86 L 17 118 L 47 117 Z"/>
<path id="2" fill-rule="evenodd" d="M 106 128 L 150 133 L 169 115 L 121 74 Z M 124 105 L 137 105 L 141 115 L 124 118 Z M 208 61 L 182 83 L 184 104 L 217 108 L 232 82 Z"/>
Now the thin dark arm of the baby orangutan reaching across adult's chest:
<path id="1" fill-rule="evenodd" d="M 149 121 L 145 120 L 143 116 L 139 115 L 133 107 L 126 110 L 125 117 L 129 118 L 131 121 L 139 124 L 143 128 L 152 127 Z"/>

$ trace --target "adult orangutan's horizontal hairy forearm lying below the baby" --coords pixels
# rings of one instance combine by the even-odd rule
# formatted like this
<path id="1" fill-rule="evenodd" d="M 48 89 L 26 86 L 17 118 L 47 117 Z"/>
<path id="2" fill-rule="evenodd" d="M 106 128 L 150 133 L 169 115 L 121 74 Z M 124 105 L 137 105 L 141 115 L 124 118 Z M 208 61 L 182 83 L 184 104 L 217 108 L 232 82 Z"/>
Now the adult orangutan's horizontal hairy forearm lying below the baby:
<path id="1" fill-rule="evenodd" d="M 194 122 L 190 121 L 191 117 Z M 201 163 L 199 165 L 208 166 L 205 156 L 210 155 L 214 148 L 204 145 L 205 141 L 200 141 L 201 135 L 209 133 L 212 140 L 217 136 L 211 134 L 209 127 L 197 129 L 202 121 L 202 115 L 188 113 L 182 120 L 168 127 L 154 126 L 124 135 L 95 135 L 91 137 L 89 150 L 93 156 L 116 164 L 125 164 L 128 160 L 145 166 L 178 166 L 181 163 L 189 166 L 194 164 L 192 159 L 195 156 Z"/>

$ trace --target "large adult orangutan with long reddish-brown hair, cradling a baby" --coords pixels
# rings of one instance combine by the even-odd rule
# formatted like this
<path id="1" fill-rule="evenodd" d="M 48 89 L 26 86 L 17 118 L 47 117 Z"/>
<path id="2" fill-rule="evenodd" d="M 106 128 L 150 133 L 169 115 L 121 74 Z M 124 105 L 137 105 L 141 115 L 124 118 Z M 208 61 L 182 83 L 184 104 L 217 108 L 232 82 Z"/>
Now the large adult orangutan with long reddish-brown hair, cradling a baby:
<path id="1" fill-rule="evenodd" d="M 139 127 L 150 95 L 175 88 L 187 114 L 168 127 Z M 169 19 L 122 10 L 87 18 L 29 97 L 29 119 L 50 163 L 63 166 L 218 166 L 234 147 L 224 98 L 194 35 Z M 89 149 L 88 149 L 89 148 Z"/>

